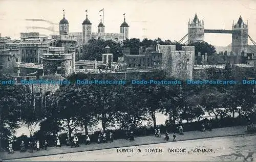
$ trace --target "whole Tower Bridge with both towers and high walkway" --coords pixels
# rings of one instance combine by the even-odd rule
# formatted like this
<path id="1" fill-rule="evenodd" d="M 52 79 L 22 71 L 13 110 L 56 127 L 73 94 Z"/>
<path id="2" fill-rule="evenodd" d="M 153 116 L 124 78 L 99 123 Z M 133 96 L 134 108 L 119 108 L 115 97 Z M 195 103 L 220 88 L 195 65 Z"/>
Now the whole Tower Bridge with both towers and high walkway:
<path id="1" fill-rule="evenodd" d="M 197 13 L 193 19 L 188 20 L 188 32 L 187 34 L 179 41 L 182 43 L 187 37 L 187 41 L 184 44 L 191 44 L 194 42 L 203 42 L 204 33 L 216 33 L 216 34 L 231 34 L 232 35 L 232 45 L 231 51 L 233 55 L 244 55 L 247 56 L 247 53 L 256 51 L 256 42 L 248 34 L 248 21 L 244 23 L 242 17 L 240 16 L 237 23 L 232 24 L 231 30 L 215 30 L 215 29 L 204 29 L 204 19 L 199 20 Z M 248 45 L 248 37 L 254 46 Z M 244 53 L 244 54 L 243 54 Z"/>

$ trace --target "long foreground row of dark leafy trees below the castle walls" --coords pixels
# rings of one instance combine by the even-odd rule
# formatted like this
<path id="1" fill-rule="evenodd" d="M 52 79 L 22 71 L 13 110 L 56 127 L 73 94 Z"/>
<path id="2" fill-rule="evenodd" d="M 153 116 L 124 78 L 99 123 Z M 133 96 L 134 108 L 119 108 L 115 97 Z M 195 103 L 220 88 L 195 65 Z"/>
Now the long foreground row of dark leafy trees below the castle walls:
<path id="1" fill-rule="evenodd" d="M 207 70 L 208 79 L 239 79 L 251 71 L 226 66 L 220 70 Z M 93 74 L 74 74 L 68 79 L 94 79 Z M 143 73 L 142 79 L 173 80 L 161 71 L 157 74 Z M 240 77 L 241 78 L 241 77 Z M 9 79 L 2 77 L 2 79 Z M 99 78 L 98 78 L 99 79 Z M 106 78 L 100 78 L 106 79 Z M 109 78 L 118 79 L 118 78 Z M 127 82 L 130 83 L 130 82 Z M 156 127 L 156 113 L 168 115 L 167 122 L 175 124 L 186 120 L 200 120 L 205 113 L 224 118 L 228 113 L 255 115 L 255 94 L 252 85 L 69 85 L 62 86 L 48 100 L 44 111 L 35 109 L 31 90 L 24 85 L 0 85 L 0 132 L 1 140 L 7 139 L 20 121 L 33 129 L 41 119 L 41 132 L 49 135 L 66 128 L 72 132 L 83 127 L 86 132 L 98 121 L 105 131 L 118 123 L 123 129 L 136 129 L 143 121 Z M 238 109 L 241 106 L 241 109 Z M 219 109 L 224 107 L 225 109 Z M 1 143 L 0 143 L 1 146 Z"/>

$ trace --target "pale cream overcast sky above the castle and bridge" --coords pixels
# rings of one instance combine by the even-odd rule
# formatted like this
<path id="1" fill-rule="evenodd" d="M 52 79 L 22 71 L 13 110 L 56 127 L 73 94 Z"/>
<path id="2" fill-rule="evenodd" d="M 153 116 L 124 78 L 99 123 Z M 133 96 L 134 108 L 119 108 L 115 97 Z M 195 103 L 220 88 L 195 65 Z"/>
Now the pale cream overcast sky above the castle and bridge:
<path id="1" fill-rule="evenodd" d="M 204 18 L 205 29 L 230 30 L 232 21 L 237 22 L 239 16 L 249 24 L 249 35 L 256 41 L 256 1 L 254 0 L 0 0 L 0 33 L 1 36 L 19 38 L 20 32 L 40 32 L 51 34 L 46 30 L 26 30 L 26 26 L 50 27 L 46 22 L 25 21 L 25 19 L 46 19 L 55 23 L 63 17 L 69 21 L 70 32 L 81 32 L 82 21 L 88 17 L 92 23 L 92 31 L 97 32 L 100 22 L 99 10 L 104 8 L 104 24 L 106 33 L 119 33 L 123 22 L 130 25 L 130 38 L 179 41 L 187 34 L 188 19 L 194 18 L 197 12 L 200 20 Z M 143 31 L 142 29 L 146 30 Z M 58 26 L 55 25 L 55 30 Z M 208 34 L 204 40 L 217 46 L 231 43 L 231 34 Z M 249 41 L 248 41 L 249 42 Z M 250 44 L 250 42 L 249 42 Z"/>

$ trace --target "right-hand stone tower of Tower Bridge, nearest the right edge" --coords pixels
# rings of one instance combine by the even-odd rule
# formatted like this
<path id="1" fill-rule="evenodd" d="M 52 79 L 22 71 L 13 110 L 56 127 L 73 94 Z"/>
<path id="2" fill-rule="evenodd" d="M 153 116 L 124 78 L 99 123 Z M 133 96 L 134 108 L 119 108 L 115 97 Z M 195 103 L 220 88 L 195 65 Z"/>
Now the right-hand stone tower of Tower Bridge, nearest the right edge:
<path id="1" fill-rule="evenodd" d="M 234 55 L 247 56 L 248 47 L 248 21 L 245 24 L 241 18 L 236 24 L 232 25 L 232 52 Z"/>

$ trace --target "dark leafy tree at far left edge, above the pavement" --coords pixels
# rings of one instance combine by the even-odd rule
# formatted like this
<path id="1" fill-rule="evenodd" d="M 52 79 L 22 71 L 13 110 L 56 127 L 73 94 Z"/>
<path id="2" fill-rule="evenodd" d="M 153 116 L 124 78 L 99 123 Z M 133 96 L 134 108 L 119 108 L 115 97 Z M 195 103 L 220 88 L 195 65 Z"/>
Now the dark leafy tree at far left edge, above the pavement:
<path id="1" fill-rule="evenodd" d="M 3 80 L 10 78 L 2 76 Z M 11 132 L 19 127 L 24 109 L 31 100 L 31 91 L 24 85 L 0 84 L 0 151 L 3 151 L 3 139 L 8 139 Z"/>

